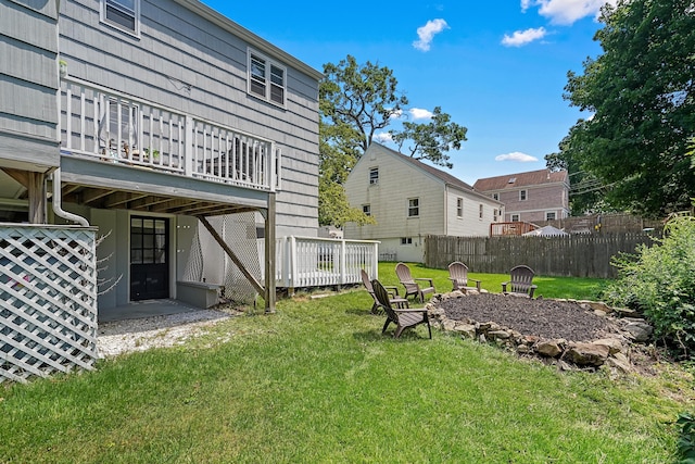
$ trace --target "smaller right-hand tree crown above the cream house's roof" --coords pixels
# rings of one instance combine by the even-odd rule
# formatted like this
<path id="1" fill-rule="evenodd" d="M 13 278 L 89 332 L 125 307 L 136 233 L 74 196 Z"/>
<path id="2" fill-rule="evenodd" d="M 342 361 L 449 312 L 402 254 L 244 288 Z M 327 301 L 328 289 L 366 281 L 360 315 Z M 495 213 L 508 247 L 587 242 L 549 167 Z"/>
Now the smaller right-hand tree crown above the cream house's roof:
<path id="1" fill-rule="evenodd" d="M 460 150 L 460 143 L 467 140 L 467 131 L 466 127 L 453 123 L 448 114 L 442 113 L 441 106 L 437 106 L 429 123 L 406 121 L 403 123 L 403 130 L 392 130 L 391 136 L 399 146 L 399 151 L 410 140 L 410 156 L 452 168 L 454 165 L 448 161 L 446 152 L 451 149 Z"/>

